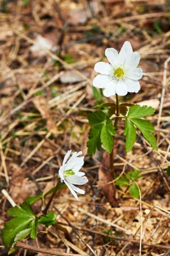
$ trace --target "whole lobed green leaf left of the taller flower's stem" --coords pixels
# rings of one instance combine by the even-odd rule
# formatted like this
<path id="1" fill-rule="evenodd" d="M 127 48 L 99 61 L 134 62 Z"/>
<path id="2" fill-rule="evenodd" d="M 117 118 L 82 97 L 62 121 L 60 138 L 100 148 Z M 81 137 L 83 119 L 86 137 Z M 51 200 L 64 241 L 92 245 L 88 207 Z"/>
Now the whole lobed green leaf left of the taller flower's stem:
<path id="1" fill-rule="evenodd" d="M 88 154 L 92 156 L 96 148 L 101 150 L 101 143 L 108 152 L 113 148 L 113 136 L 115 127 L 110 118 L 101 110 L 88 115 L 89 124 L 92 128 L 89 131 L 89 141 L 87 141 Z"/>

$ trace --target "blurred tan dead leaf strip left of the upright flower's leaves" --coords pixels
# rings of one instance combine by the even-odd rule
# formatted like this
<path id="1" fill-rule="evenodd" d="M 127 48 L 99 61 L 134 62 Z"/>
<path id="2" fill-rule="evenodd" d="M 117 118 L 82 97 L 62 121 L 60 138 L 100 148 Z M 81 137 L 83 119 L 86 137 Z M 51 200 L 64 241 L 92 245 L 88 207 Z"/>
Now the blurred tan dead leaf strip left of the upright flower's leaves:
<path id="1" fill-rule="evenodd" d="M 36 109 L 38 109 L 38 111 L 41 113 L 41 116 L 46 119 L 46 126 L 48 131 L 56 134 L 57 127 L 54 120 L 52 119 L 50 109 L 48 108 L 48 103 L 46 102 L 45 97 L 43 97 L 43 95 L 40 95 L 38 97 L 35 97 L 32 102 L 34 103 Z"/>

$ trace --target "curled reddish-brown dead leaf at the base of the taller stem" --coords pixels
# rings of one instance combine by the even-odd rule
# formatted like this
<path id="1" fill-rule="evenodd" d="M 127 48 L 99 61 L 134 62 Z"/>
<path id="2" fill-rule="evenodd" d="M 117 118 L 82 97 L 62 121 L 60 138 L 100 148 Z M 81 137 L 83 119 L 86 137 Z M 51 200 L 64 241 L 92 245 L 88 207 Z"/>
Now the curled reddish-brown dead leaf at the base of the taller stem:
<path id="1" fill-rule="evenodd" d="M 112 181 L 113 178 L 110 172 L 110 155 L 105 153 L 103 154 L 103 160 L 99 167 L 99 188 L 101 188 L 101 191 L 108 202 L 110 202 L 114 207 L 118 207 L 118 202 L 115 198 L 116 189 Z"/>

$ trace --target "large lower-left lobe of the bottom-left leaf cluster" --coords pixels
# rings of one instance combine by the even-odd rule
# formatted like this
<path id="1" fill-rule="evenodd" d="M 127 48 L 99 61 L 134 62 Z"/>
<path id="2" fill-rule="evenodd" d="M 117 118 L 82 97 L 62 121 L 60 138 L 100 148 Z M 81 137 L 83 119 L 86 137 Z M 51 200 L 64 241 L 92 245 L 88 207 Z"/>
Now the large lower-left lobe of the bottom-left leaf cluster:
<path id="1" fill-rule="evenodd" d="M 4 224 L 4 228 L 2 230 L 2 239 L 4 246 L 10 247 L 13 244 L 13 241 L 17 234 L 24 230 L 31 221 L 31 218 L 17 217 Z"/>

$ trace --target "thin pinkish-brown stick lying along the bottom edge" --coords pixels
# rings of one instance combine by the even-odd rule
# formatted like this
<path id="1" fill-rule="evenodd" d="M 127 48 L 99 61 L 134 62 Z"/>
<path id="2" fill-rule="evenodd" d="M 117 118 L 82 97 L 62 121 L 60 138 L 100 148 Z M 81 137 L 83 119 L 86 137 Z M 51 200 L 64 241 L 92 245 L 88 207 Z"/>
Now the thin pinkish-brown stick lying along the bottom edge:
<path id="1" fill-rule="evenodd" d="M 40 253 L 46 253 L 47 255 L 58 255 L 58 256 L 84 256 L 82 254 L 73 254 L 73 253 L 64 253 L 64 252 L 57 252 L 57 250 L 50 250 L 50 249 L 46 249 L 46 248 L 38 248 L 38 247 L 34 247 L 28 244 L 24 244 L 24 243 L 20 243 L 17 242 L 16 244 L 17 247 L 19 248 L 23 248 L 24 250 L 30 250 L 32 252 L 40 252 Z"/>

